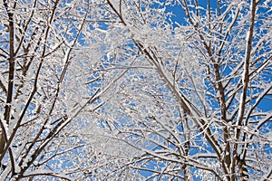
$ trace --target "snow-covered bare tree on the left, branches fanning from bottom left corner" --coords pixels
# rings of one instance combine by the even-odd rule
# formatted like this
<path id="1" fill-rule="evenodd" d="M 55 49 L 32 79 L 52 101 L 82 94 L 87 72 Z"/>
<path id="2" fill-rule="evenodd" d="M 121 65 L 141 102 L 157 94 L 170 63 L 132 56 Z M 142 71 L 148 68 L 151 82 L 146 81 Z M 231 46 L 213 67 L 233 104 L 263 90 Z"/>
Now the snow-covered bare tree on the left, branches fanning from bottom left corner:
<path id="1" fill-rule="evenodd" d="M 123 71 L 110 69 L 112 48 L 94 31 L 108 18 L 103 9 L 92 1 L 1 2 L 1 180 L 102 179 L 121 164 L 121 143 L 96 122 L 102 94 Z"/>

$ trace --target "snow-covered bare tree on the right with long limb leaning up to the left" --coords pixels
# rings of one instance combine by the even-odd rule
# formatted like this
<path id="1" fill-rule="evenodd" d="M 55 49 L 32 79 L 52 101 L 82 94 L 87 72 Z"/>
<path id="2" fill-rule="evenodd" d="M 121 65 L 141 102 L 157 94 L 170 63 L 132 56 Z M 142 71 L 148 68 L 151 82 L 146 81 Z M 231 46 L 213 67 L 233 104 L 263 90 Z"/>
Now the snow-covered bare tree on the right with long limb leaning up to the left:
<path id="1" fill-rule="evenodd" d="M 142 151 L 127 167 L 159 180 L 271 178 L 271 2 L 107 2 L 135 52 L 102 116 Z"/>

